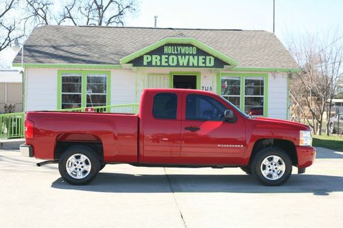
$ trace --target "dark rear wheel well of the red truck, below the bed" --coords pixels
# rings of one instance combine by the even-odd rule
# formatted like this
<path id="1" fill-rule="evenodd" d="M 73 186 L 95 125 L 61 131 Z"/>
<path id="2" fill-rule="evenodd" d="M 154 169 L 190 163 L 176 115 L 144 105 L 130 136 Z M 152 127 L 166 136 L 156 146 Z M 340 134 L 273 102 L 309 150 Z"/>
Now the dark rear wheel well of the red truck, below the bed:
<path id="1" fill-rule="evenodd" d="M 99 155 L 101 160 L 104 160 L 104 149 L 102 143 L 99 142 L 71 142 L 71 141 L 58 141 L 54 151 L 54 159 L 59 160 L 62 153 L 71 146 L 88 146 Z"/>

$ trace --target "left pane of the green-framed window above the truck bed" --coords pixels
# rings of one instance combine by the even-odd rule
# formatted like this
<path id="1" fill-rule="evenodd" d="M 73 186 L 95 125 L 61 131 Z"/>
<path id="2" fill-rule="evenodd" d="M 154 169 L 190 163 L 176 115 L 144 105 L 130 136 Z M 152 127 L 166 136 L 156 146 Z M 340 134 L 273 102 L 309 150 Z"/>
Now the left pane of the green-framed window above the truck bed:
<path id="1" fill-rule="evenodd" d="M 80 108 L 82 103 L 82 75 L 62 73 L 62 109 Z"/>

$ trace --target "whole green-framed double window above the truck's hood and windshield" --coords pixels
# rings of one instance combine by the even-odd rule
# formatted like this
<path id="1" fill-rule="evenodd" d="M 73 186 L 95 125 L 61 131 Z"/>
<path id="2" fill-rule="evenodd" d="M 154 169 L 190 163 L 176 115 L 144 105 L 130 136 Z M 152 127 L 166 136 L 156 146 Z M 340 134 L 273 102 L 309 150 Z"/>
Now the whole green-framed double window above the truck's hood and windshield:
<path id="1" fill-rule="evenodd" d="M 233 103 L 239 109 L 244 110 L 250 115 L 264 115 L 266 99 L 265 94 L 266 80 L 265 74 L 255 74 L 249 76 L 239 76 L 235 73 L 223 73 L 220 77 L 220 95 Z"/>

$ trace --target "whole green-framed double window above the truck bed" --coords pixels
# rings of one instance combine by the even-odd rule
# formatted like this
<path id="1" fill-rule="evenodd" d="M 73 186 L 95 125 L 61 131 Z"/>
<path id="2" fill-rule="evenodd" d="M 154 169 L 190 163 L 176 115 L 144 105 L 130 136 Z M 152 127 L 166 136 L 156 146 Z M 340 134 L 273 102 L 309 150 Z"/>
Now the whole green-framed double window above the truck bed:
<path id="1" fill-rule="evenodd" d="M 109 71 L 58 71 L 58 109 L 110 104 Z"/>

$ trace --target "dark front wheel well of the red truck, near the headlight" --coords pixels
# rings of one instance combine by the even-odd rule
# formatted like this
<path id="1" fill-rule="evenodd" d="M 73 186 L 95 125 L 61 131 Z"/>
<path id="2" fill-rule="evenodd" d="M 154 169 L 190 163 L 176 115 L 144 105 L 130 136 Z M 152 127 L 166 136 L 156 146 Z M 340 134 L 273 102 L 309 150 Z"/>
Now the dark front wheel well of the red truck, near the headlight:
<path id="1" fill-rule="evenodd" d="M 254 148 L 252 148 L 252 153 L 250 156 L 250 162 L 253 161 L 254 157 L 257 155 L 257 152 L 264 148 L 268 148 L 270 146 L 274 146 L 276 148 L 280 148 L 287 152 L 289 157 L 292 159 L 293 166 L 298 165 L 298 156 L 296 155 L 296 147 L 294 146 L 292 141 L 283 140 L 283 139 L 259 139 L 255 142 Z"/>

